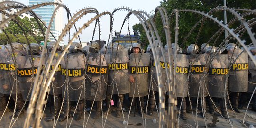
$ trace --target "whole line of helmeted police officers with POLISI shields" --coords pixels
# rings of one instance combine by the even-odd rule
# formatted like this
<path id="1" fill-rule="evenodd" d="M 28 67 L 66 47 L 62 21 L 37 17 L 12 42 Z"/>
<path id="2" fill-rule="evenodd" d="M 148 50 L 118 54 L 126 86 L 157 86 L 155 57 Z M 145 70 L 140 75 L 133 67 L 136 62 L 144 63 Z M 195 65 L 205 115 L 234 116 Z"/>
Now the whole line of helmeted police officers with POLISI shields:
<path id="1" fill-rule="evenodd" d="M 56 52 L 51 52 L 56 45 Z M 164 63 L 164 60 L 169 60 L 168 47 L 164 47 L 165 55 L 162 55 L 160 47 L 157 48 L 159 50 L 155 54 L 159 55 L 162 72 L 160 79 L 164 83 L 163 92 L 166 96 L 168 86 L 165 69 L 170 68 L 170 63 Z M 52 72 L 63 47 L 53 41 L 47 45 L 46 54 L 41 55 L 41 50 L 42 46 L 36 43 L 28 46 L 15 42 L 0 46 L 0 111 L 5 110 L 9 99 L 6 96 L 11 95 L 16 102 L 13 117 L 23 113 L 22 107 L 25 101 L 30 100 L 31 87 L 38 75 L 37 67 L 42 64 L 44 68 L 46 64 L 46 61 L 40 63 L 41 56 L 47 60 L 48 56 L 54 54 L 49 71 Z M 256 55 L 255 47 L 251 46 L 249 50 Z M 207 118 L 204 113 L 206 102 L 209 113 L 214 114 L 216 109 L 213 107 L 213 101 L 219 102 L 221 114 L 227 119 L 228 101 L 225 98 L 229 96 L 233 110 L 240 113 L 239 94 L 254 91 L 256 67 L 247 53 L 242 52 L 236 44 L 230 43 L 223 49 L 206 44 L 199 49 L 197 45 L 191 44 L 186 51 L 172 44 L 171 54 L 176 56 L 173 61 L 176 62 L 174 71 L 177 107 L 180 108 L 180 117 L 183 120 L 186 120 L 186 111 L 191 111 L 191 107 L 198 107 L 201 116 Z M 54 104 L 55 112 L 46 117 L 46 121 L 57 119 L 59 112 L 58 121 L 69 118 L 73 102 L 75 106 L 77 104 L 75 120 L 81 119 L 85 100 L 89 102 L 86 103 L 86 108 L 92 109 L 96 105 L 93 118 L 100 117 L 105 111 L 111 113 L 113 104 L 117 105 L 116 117 L 120 117 L 125 111 L 123 103 L 127 102 L 132 104 L 131 106 L 137 106 L 131 110 L 138 110 L 141 116 L 145 114 L 148 106 L 146 114 L 152 115 L 158 104 L 157 77 L 159 75 L 156 73 L 150 46 L 143 52 L 138 43 L 126 46 L 110 43 L 101 47 L 98 42 L 91 41 L 88 46 L 82 48 L 80 43 L 73 42 L 61 59 L 49 86 L 49 99 L 53 99 L 49 102 Z M 112 101 L 113 98 L 118 100 Z M 145 104 L 147 99 L 148 105 Z M 193 102 L 196 102 L 195 106 Z M 102 109 L 104 103 L 107 110 Z M 256 96 L 252 100 L 252 110 L 256 111 Z"/>

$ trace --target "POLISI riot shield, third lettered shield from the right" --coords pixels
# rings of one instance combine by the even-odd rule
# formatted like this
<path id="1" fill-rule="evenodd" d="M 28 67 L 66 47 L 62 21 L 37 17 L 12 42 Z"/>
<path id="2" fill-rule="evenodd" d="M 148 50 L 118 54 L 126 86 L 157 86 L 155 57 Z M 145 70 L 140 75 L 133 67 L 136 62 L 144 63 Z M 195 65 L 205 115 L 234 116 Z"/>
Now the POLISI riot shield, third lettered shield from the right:
<path id="1" fill-rule="evenodd" d="M 207 57 L 208 54 L 189 55 L 191 71 L 189 75 L 189 95 L 191 97 L 206 97 L 208 95 L 208 71 L 205 68 Z"/>

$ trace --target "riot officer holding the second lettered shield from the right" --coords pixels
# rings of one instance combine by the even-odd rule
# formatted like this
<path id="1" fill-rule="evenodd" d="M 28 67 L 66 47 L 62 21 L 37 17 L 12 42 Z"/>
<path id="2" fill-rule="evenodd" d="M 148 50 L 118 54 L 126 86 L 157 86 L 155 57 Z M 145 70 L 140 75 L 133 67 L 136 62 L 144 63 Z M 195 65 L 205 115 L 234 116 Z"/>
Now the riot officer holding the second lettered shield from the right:
<path id="1" fill-rule="evenodd" d="M 215 46 L 209 46 L 206 49 L 206 53 L 210 54 L 209 62 L 209 81 L 208 90 L 211 97 L 218 98 L 220 102 L 220 110 L 225 119 L 228 119 L 228 115 L 225 108 L 225 83 L 228 75 L 228 55 L 227 54 L 215 54 L 217 48 Z M 209 111 L 214 113 L 213 102 L 209 98 Z"/>

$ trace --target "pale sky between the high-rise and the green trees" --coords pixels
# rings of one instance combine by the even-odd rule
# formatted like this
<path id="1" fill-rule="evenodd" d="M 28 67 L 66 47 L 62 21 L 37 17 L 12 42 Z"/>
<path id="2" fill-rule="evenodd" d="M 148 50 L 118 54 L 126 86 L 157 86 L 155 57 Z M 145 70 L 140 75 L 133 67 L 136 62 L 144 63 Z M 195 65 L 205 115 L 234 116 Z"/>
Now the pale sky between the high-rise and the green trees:
<path id="1" fill-rule="evenodd" d="M 18 0 L 26 5 L 28 5 L 28 0 Z M 75 13 L 79 9 L 86 8 L 86 7 L 93 7 L 96 8 L 100 13 L 103 11 L 110 11 L 112 12 L 114 9 L 118 7 L 129 7 L 133 10 L 144 10 L 148 14 L 153 14 L 155 11 L 155 7 L 160 5 L 160 1 L 162 0 L 62 0 L 64 5 L 66 5 L 71 14 Z M 125 16 L 128 14 L 128 11 L 119 11 L 114 15 L 114 24 L 113 24 L 113 31 L 116 30 L 117 32 L 120 31 L 121 25 Z M 82 27 L 82 25 L 90 20 L 94 15 L 88 14 L 87 16 L 83 17 L 79 22 L 76 24 L 77 27 Z M 64 24 L 67 23 L 66 13 L 64 12 Z M 135 16 L 131 16 L 129 19 L 129 27 L 131 33 L 132 26 L 136 23 L 139 23 L 139 20 Z M 104 16 L 100 18 L 100 26 L 101 26 L 101 40 L 108 40 L 108 35 L 110 31 L 110 17 Z M 87 29 L 82 32 L 81 41 L 88 42 L 92 38 L 92 33 L 94 29 L 95 23 L 91 24 Z M 63 25 L 64 26 L 64 25 Z M 94 40 L 99 39 L 99 32 L 97 29 L 97 34 L 94 37 Z M 71 31 L 74 33 L 74 30 Z M 128 33 L 128 26 L 122 29 L 122 34 Z M 76 40 L 77 41 L 77 40 Z M 67 37 L 64 38 L 64 42 L 67 42 Z"/>

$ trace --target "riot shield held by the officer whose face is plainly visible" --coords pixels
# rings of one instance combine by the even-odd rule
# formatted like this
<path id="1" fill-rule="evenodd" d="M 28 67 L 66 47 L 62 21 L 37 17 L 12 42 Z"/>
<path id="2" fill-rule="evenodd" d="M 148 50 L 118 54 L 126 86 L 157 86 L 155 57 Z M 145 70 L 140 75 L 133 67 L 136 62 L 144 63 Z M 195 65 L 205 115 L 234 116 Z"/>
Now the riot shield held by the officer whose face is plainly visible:
<path id="1" fill-rule="evenodd" d="M 148 94 L 148 73 L 150 65 L 150 54 L 130 54 L 129 70 L 135 82 L 130 83 L 130 97 L 143 97 Z"/>

